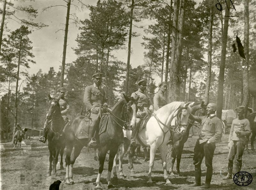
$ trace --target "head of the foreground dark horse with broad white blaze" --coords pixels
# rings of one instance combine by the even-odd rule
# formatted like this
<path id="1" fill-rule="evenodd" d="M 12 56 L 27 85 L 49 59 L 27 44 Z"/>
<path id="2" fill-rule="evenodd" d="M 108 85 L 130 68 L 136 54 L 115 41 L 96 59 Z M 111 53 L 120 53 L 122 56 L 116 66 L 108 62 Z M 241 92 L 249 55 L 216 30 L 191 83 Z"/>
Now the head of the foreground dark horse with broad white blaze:
<path id="1" fill-rule="evenodd" d="M 137 96 L 136 98 L 133 98 L 133 97 L 128 97 L 125 94 L 123 95 L 126 100 L 125 113 L 129 121 L 128 129 L 134 129 L 136 127 L 136 113 L 138 111 L 137 102 L 139 100 L 139 96 Z"/>

